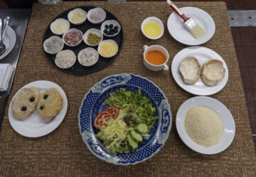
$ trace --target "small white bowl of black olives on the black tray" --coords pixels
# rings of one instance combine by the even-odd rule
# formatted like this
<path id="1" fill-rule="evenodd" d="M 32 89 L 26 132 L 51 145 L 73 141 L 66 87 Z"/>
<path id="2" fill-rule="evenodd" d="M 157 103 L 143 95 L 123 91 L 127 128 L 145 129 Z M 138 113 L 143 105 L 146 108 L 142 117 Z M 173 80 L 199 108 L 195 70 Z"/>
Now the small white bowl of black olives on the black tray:
<path id="1" fill-rule="evenodd" d="M 121 26 L 117 21 L 114 20 L 105 21 L 102 23 L 100 30 L 105 36 L 114 37 L 120 32 Z"/>

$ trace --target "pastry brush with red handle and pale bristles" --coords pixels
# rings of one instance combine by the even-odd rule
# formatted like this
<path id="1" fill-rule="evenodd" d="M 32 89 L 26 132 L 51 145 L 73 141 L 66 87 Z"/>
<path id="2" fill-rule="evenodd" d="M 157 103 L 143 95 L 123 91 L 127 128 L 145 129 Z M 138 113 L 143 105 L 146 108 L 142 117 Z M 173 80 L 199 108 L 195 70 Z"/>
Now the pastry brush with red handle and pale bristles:
<path id="1" fill-rule="evenodd" d="M 189 32 L 193 35 L 194 38 L 198 39 L 204 35 L 205 30 L 203 30 L 203 28 L 201 28 L 201 26 L 198 25 L 198 23 L 196 23 L 193 18 L 186 17 L 184 13 L 177 6 L 175 6 L 172 1 L 167 0 L 167 4 L 169 4 L 169 6 L 171 6 L 171 8 L 178 14 L 178 16 L 183 19 L 184 25 L 186 28 L 188 28 Z"/>

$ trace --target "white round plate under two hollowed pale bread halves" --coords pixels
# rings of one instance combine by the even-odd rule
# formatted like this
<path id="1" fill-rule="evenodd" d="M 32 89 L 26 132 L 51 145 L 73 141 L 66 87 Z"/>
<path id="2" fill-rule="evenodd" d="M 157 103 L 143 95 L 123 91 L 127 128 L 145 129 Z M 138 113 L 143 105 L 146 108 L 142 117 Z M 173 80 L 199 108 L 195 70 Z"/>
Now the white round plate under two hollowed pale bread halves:
<path id="1" fill-rule="evenodd" d="M 181 64 L 181 61 L 186 57 L 196 57 L 198 59 L 199 64 L 201 65 L 201 68 L 203 67 L 203 64 L 205 62 L 208 62 L 210 59 L 219 59 L 221 62 L 223 62 L 223 67 L 225 68 L 225 76 L 224 78 L 219 81 L 215 86 L 207 86 L 204 84 L 201 77 L 199 77 L 198 81 L 196 81 L 195 84 L 186 84 L 183 81 L 183 78 L 181 76 L 181 73 L 179 72 L 179 67 Z M 192 93 L 194 95 L 198 96 L 210 96 L 221 89 L 227 84 L 228 81 L 228 67 L 225 63 L 224 59 L 218 55 L 213 50 L 210 50 L 206 47 L 199 47 L 199 46 L 193 46 L 193 47 L 187 47 L 181 51 L 179 51 L 173 61 L 171 62 L 171 74 L 174 76 L 174 80 L 180 86 L 182 89 L 187 91 L 188 93 Z"/>

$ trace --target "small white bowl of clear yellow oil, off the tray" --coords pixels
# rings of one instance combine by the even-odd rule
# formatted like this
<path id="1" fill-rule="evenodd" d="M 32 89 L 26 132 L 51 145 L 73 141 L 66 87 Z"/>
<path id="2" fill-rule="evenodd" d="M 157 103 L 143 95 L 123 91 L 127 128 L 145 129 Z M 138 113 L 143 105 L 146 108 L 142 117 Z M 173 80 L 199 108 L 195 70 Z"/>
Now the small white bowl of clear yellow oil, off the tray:
<path id="1" fill-rule="evenodd" d="M 142 33 L 151 40 L 157 40 L 164 34 L 164 24 L 154 16 L 146 18 L 142 22 Z"/>

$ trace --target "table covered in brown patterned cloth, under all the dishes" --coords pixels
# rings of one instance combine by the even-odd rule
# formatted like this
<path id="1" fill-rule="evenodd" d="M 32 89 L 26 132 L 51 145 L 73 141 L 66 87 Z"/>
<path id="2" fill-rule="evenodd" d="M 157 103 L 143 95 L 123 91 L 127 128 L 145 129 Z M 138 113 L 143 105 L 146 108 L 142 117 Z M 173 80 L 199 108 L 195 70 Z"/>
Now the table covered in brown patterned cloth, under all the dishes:
<path id="1" fill-rule="evenodd" d="M 86 5 L 105 8 L 121 21 L 124 29 L 122 52 L 110 66 L 99 72 L 85 75 L 60 72 L 43 54 L 44 30 L 58 13 L 68 8 Z M 143 45 L 159 44 L 166 47 L 170 54 L 169 66 L 174 55 L 186 47 L 171 38 L 166 28 L 167 18 L 172 10 L 165 2 L 62 2 L 48 6 L 33 4 L 0 134 L 0 174 L 2 176 L 253 176 L 256 167 L 255 152 L 225 3 L 177 2 L 176 5 L 202 8 L 215 21 L 215 35 L 203 46 L 218 52 L 228 64 L 228 84 L 222 91 L 211 96 L 224 103 L 235 119 L 235 139 L 228 149 L 220 154 L 207 156 L 186 147 L 176 132 L 175 117 L 179 106 L 193 95 L 178 87 L 171 72 L 151 72 L 142 63 Z M 165 31 L 161 39 L 149 40 L 142 35 L 140 25 L 148 16 L 156 16 L 163 21 Z M 141 164 L 131 166 L 115 166 L 97 159 L 82 142 L 78 128 L 78 112 L 85 93 L 105 76 L 121 73 L 138 74 L 154 81 L 168 98 L 173 114 L 169 139 L 160 152 Z M 11 128 L 7 110 L 14 93 L 23 85 L 36 80 L 53 81 L 60 85 L 68 96 L 68 112 L 57 130 L 45 137 L 31 139 L 18 135 Z"/>

